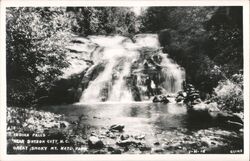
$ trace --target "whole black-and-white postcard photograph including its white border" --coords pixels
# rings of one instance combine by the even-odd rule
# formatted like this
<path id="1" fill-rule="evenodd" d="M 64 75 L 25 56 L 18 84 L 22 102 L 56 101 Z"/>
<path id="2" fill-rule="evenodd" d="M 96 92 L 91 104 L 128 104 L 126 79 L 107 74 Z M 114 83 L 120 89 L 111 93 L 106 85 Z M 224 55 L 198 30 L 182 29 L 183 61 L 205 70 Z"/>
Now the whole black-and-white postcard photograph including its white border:
<path id="1" fill-rule="evenodd" d="M 5 7 L 6 154 L 247 154 L 246 9 Z"/>

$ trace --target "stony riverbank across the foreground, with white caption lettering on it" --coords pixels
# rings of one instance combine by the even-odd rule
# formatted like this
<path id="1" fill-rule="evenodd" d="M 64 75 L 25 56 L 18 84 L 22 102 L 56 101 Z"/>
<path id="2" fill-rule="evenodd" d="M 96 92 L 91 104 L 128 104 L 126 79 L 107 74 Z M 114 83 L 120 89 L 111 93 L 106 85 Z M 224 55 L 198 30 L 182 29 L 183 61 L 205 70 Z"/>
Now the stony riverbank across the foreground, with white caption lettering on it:
<path id="1" fill-rule="evenodd" d="M 122 124 L 102 126 L 100 128 L 83 124 L 85 115 L 71 120 L 64 115 L 35 109 L 8 108 L 8 152 L 9 153 L 77 153 L 77 154 L 155 154 L 155 153 L 231 153 L 232 149 L 242 147 L 243 133 L 223 130 L 218 127 L 205 129 L 172 128 L 156 129 L 151 135 L 128 132 Z M 93 121 L 103 118 L 93 117 Z M 67 120 L 67 121 L 66 121 Z M 29 137 L 16 136 L 29 134 Z M 34 135 L 43 134 L 35 137 Z M 51 143 L 28 144 L 27 139 L 64 140 L 56 144 L 59 150 L 53 151 Z M 14 139 L 14 140 L 13 140 Z M 26 140 L 23 144 L 15 139 Z M 45 151 L 16 151 L 13 147 L 23 145 L 48 147 Z M 67 147 L 66 149 L 60 149 Z M 227 147 L 227 148 L 226 148 Z M 242 150 L 242 149 L 241 149 Z M 243 150 L 242 150 L 243 151 Z"/>

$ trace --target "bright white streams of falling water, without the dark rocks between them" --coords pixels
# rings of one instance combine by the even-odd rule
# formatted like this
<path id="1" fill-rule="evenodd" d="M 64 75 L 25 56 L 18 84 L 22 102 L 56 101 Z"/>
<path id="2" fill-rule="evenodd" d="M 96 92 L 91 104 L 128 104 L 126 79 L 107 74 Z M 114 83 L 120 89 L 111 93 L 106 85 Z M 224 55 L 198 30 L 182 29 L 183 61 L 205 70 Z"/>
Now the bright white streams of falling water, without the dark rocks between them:
<path id="1" fill-rule="evenodd" d="M 122 36 L 91 36 L 89 39 L 100 47 L 94 52 L 94 62 L 104 62 L 105 69 L 99 73 L 97 78 L 89 82 L 84 90 L 80 102 L 131 102 L 133 96 L 131 89 L 126 84 L 126 79 L 131 75 L 133 62 L 139 61 L 142 48 L 151 48 L 155 51 L 160 49 L 158 37 L 155 34 L 140 34 L 135 36 L 135 43 Z M 102 50 L 100 50 L 102 49 Z M 159 64 L 162 66 L 164 82 L 161 84 L 163 94 L 176 93 L 182 88 L 185 72 L 180 66 L 167 57 L 167 54 L 157 51 L 162 57 Z M 153 53 L 150 53 L 153 54 Z M 143 70 L 143 63 L 139 63 L 137 75 L 137 85 L 140 93 L 145 93 L 145 75 L 140 72 Z M 115 79 L 114 79 L 115 75 Z M 153 84 L 153 81 L 152 81 Z M 103 99 L 103 90 L 106 89 L 108 95 Z M 142 94 L 141 94 L 142 95 Z M 144 94 L 145 95 L 145 94 Z"/>

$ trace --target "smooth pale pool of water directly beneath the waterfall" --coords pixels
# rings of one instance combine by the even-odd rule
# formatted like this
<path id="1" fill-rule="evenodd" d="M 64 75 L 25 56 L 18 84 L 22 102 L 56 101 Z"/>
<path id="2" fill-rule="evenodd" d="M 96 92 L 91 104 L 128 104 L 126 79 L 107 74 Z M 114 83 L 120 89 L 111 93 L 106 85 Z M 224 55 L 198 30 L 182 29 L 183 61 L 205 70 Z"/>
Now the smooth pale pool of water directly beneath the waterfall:
<path id="1" fill-rule="evenodd" d="M 186 107 L 173 103 L 75 104 L 50 106 L 47 110 L 64 114 L 70 121 L 82 116 L 83 124 L 97 128 L 123 124 L 124 131 L 129 133 L 153 133 L 156 129 L 186 127 L 188 120 Z"/>

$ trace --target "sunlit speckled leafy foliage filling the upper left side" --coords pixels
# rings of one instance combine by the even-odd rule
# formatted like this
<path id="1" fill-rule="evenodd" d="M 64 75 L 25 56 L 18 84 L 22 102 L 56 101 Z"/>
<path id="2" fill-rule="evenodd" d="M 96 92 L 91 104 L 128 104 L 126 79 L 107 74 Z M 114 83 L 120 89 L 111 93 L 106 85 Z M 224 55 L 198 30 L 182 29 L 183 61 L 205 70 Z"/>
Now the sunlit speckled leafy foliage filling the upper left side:
<path id="1" fill-rule="evenodd" d="M 38 89 L 48 90 L 62 74 L 70 30 L 64 8 L 7 8 L 8 105 L 30 104 Z"/>

